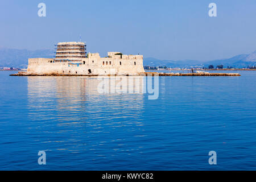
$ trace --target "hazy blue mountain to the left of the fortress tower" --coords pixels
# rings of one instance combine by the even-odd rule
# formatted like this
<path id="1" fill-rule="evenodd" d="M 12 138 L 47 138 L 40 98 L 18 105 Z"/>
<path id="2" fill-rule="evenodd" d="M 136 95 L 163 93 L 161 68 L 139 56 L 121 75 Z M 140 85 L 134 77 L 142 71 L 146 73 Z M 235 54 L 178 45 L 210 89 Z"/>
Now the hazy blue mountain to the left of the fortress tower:
<path id="1" fill-rule="evenodd" d="M 51 49 L 43 49 L 30 51 L 27 49 L 9 49 L 0 48 L 0 67 L 26 67 L 28 58 L 33 57 L 53 57 L 54 51 Z"/>

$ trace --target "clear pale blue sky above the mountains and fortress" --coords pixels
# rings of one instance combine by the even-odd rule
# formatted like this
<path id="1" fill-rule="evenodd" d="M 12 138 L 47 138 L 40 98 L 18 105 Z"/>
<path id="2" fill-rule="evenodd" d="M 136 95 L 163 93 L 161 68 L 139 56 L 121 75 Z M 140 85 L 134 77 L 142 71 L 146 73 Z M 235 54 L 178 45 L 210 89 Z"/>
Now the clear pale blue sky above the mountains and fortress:
<path id="1" fill-rule="evenodd" d="M 38 16 L 40 2 L 46 17 Z M 217 17 L 208 15 L 211 2 Z M 256 50 L 255 0 L 2 0 L 0 23 L 0 46 L 7 48 L 53 49 L 81 34 L 88 51 L 101 56 L 205 61 Z"/>

